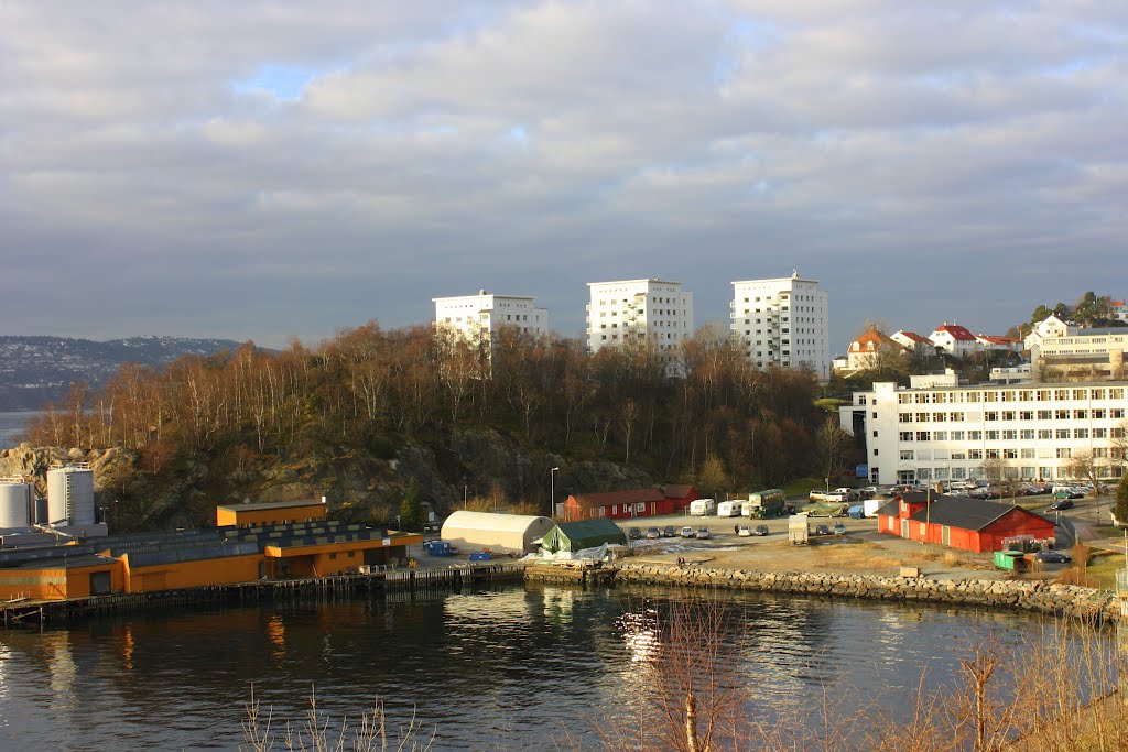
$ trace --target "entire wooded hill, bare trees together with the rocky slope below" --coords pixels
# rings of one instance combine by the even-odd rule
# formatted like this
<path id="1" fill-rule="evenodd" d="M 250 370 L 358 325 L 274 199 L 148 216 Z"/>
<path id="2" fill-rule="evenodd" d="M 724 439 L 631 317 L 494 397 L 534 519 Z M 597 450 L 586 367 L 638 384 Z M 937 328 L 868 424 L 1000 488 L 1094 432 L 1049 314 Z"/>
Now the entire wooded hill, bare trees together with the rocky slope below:
<path id="1" fill-rule="evenodd" d="M 440 512 L 468 496 L 547 511 L 553 467 L 559 501 L 658 480 L 782 486 L 851 459 L 812 374 L 758 372 L 710 330 L 678 351 L 684 375 L 661 355 L 640 343 L 589 356 L 511 329 L 476 348 L 370 322 L 316 347 L 127 364 L 49 406 L 27 439 L 120 448 L 132 463 L 105 493 L 150 525 L 297 494 L 387 517 L 413 477 Z"/>

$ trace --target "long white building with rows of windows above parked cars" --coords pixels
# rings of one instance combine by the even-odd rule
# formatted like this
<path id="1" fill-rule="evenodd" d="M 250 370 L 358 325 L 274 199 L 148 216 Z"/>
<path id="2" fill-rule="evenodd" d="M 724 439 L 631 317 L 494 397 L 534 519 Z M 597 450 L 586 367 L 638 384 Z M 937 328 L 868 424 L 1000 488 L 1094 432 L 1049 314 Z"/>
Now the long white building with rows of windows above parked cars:
<path id="1" fill-rule="evenodd" d="M 1076 478 L 1092 458 L 1101 477 L 1123 469 L 1128 382 L 960 387 L 954 374 L 875 383 L 839 408 L 843 428 L 865 437 L 873 483 L 984 478 L 1002 463 L 1021 480 Z"/>

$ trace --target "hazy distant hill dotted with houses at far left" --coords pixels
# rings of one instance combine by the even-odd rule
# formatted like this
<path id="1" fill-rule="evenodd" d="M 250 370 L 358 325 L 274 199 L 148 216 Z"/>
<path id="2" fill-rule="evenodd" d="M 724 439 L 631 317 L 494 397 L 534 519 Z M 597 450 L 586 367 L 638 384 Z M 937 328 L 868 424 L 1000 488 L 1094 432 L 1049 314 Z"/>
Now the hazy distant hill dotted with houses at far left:
<path id="1" fill-rule="evenodd" d="M 77 381 L 100 387 L 122 363 L 164 365 L 182 355 L 213 355 L 240 344 L 184 337 L 95 342 L 0 336 L 0 410 L 34 410 L 46 402 L 59 402 Z"/>

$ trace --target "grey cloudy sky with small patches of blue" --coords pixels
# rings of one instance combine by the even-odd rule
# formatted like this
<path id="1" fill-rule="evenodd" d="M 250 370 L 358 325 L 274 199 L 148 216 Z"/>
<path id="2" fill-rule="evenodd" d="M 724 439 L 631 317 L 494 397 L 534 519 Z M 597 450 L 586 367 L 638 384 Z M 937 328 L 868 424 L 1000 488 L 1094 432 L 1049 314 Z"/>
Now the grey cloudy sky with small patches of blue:
<path id="1" fill-rule="evenodd" d="M 933 8 L 928 8 L 933 5 Z M 0 334 L 312 343 L 479 287 L 1128 295 L 1128 3 L 0 2 Z"/>

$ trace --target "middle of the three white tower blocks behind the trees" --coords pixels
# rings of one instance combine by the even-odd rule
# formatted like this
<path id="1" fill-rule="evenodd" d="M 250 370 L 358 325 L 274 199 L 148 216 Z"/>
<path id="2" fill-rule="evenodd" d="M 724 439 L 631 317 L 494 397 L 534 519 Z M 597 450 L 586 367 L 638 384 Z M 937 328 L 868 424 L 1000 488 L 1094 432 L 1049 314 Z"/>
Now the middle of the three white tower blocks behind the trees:
<path id="1" fill-rule="evenodd" d="M 631 339 L 650 338 L 672 356 L 694 334 L 694 294 L 680 282 L 623 280 L 589 282 L 588 348 L 594 354 Z"/>

